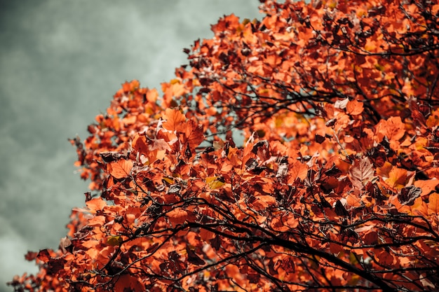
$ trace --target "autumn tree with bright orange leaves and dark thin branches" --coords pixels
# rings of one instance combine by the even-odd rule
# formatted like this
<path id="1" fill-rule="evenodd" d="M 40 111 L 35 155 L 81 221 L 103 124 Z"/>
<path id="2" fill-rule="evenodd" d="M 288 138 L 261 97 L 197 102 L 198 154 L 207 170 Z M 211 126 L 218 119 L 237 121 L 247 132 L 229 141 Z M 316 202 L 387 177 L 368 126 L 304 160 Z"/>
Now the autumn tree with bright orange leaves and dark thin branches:
<path id="1" fill-rule="evenodd" d="M 262 2 L 71 140 L 93 194 L 15 291 L 438 291 L 439 4 Z"/>

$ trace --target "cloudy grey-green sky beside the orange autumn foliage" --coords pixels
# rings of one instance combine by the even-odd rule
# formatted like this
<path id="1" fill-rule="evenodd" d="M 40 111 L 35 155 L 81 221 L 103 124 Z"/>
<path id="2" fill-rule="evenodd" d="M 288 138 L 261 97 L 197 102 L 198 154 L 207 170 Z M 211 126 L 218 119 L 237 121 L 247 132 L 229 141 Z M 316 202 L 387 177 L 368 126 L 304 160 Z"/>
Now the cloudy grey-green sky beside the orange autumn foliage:
<path id="1" fill-rule="evenodd" d="M 0 291 L 56 248 L 88 182 L 74 174 L 86 126 L 121 83 L 158 87 L 182 48 L 224 14 L 261 18 L 257 0 L 0 0 Z"/>

